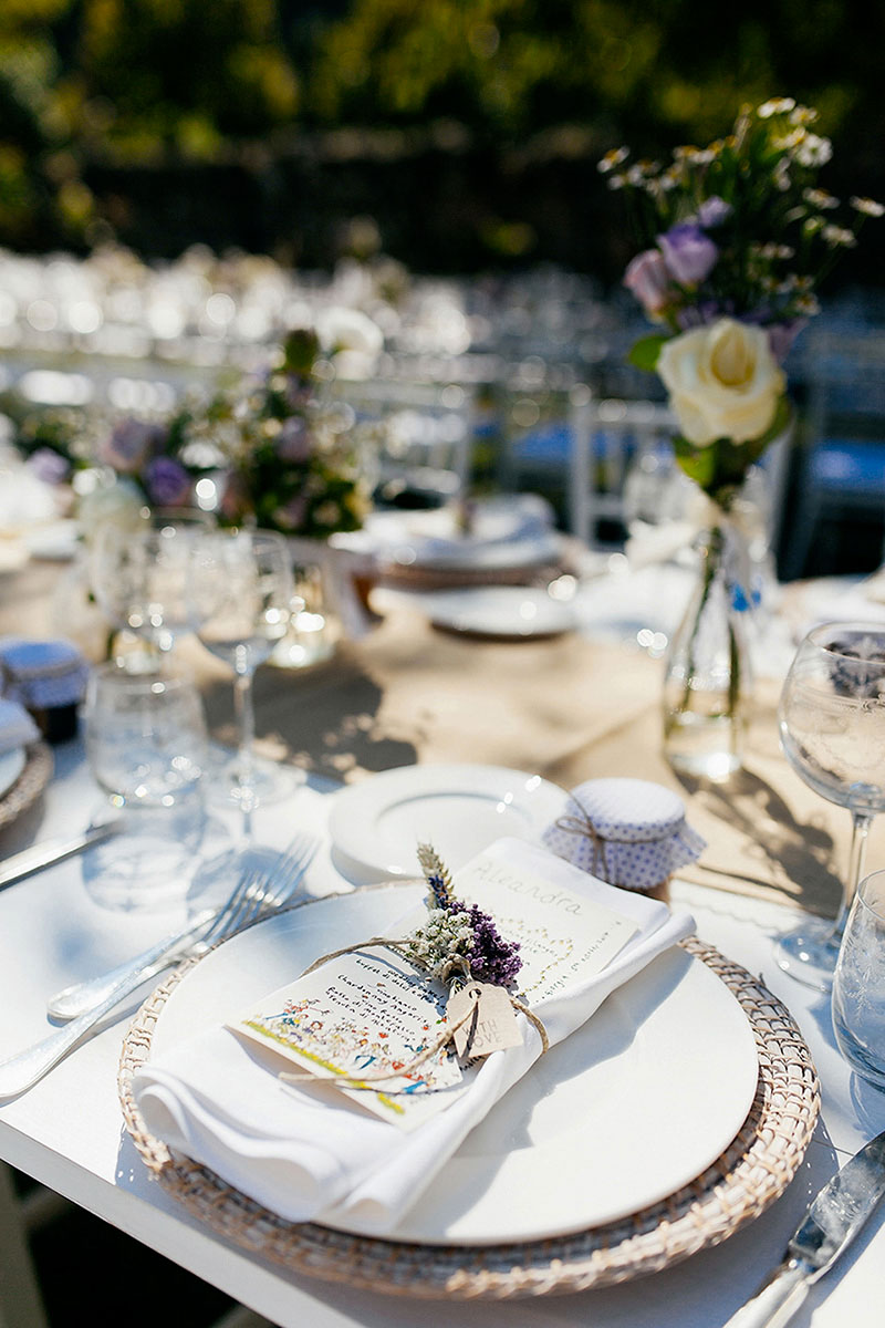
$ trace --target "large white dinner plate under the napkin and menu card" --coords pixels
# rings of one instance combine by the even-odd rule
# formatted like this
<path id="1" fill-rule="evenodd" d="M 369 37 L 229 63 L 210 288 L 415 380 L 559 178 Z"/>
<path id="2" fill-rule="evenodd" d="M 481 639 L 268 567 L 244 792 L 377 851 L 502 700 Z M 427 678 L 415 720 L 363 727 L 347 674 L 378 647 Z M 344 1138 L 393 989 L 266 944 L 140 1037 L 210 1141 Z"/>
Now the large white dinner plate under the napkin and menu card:
<path id="1" fill-rule="evenodd" d="M 234 936 L 174 988 L 151 1056 L 235 1017 L 318 955 L 385 931 L 422 894 L 405 883 L 357 890 Z M 499 1244 L 638 1212 L 694 1181 L 732 1142 L 758 1070 L 735 997 L 673 947 L 535 1062 L 389 1238 Z"/>

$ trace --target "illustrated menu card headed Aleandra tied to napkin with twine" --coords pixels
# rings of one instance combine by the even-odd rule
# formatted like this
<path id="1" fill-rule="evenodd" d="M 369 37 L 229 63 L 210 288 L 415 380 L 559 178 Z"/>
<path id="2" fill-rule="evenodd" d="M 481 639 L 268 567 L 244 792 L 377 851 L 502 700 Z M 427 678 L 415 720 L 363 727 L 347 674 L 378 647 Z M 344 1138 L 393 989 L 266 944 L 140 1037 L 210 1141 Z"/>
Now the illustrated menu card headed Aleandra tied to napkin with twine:
<path id="1" fill-rule="evenodd" d="M 516 995 L 529 1007 L 568 997 L 637 930 L 632 919 L 488 853 L 467 863 L 451 888 L 490 914 L 502 936 L 519 942 Z M 426 908 L 411 910 L 386 935 L 402 942 L 426 918 Z M 413 1130 L 463 1096 L 475 1074 L 450 1044 L 425 1054 L 446 1029 L 447 999 L 446 984 L 395 951 L 357 946 L 269 993 L 228 1027 L 293 1062 L 300 1086 L 304 1072 L 338 1080 L 336 1088 L 361 1108 Z"/>

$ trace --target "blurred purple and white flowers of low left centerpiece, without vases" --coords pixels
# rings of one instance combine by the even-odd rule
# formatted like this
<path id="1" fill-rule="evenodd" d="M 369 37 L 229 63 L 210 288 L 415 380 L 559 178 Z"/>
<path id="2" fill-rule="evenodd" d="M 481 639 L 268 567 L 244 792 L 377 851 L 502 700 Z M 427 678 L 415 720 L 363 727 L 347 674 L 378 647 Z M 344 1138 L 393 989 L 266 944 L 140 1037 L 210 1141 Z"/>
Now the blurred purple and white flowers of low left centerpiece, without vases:
<path id="1" fill-rule="evenodd" d="M 86 539 L 145 509 L 202 507 L 222 525 L 312 539 L 358 530 L 368 440 L 328 400 L 330 355 L 316 331 L 296 329 L 267 372 L 167 416 L 40 412 L 23 421 L 19 446 L 42 478 L 70 485 Z"/>

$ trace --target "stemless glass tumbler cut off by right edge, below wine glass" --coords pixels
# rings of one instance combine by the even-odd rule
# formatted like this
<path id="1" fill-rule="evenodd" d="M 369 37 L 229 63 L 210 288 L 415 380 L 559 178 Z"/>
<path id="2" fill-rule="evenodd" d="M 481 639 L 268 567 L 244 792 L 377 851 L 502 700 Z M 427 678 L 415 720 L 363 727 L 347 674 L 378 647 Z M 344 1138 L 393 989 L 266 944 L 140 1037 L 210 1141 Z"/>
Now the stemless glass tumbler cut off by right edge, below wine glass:
<path id="1" fill-rule="evenodd" d="M 836 961 L 832 1016 L 848 1064 L 885 1089 L 885 871 L 857 887 Z"/>

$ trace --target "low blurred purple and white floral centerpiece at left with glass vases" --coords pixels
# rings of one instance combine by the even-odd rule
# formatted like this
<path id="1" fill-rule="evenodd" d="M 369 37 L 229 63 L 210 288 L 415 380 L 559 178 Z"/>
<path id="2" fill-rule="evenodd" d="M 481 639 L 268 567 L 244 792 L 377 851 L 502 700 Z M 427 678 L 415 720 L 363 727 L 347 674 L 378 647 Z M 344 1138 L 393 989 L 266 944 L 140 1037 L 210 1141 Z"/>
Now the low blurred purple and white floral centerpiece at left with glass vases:
<path id="1" fill-rule="evenodd" d="M 137 418 L 90 406 L 31 410 L 17 421 L 15 438 L 28 466 L 60 486 L 86 546 L 61 610 L 65 635 L 89 632 L 90 655 L 106 651 L 109 624 L 93 622 L 86 550 L 106 525 L 135 530 L 158 509 L 202 510 L 223 526 L 297 537 L 292 559 L 301 567 L 304 612 L 293 620 L 295 643 L 280 643 L 275 663 L 292 667 L 330 653 L 338 624 L 324 596 L 340 602 L 349 586 L 326 540 L 358 530 L 370 509 L 364 446 L 374 440 L 373 426 L 356 421 L 326 385 L 340 349 L 348 372 L 365 371 L 382 339 L 358 311 L 346 319 L 332 308 L 325 315 L 317 331 L 292 331 L 267 372 L 186 398 L 169 414 Z M 101 645 L 93 648 L 97 635 Z"/>

